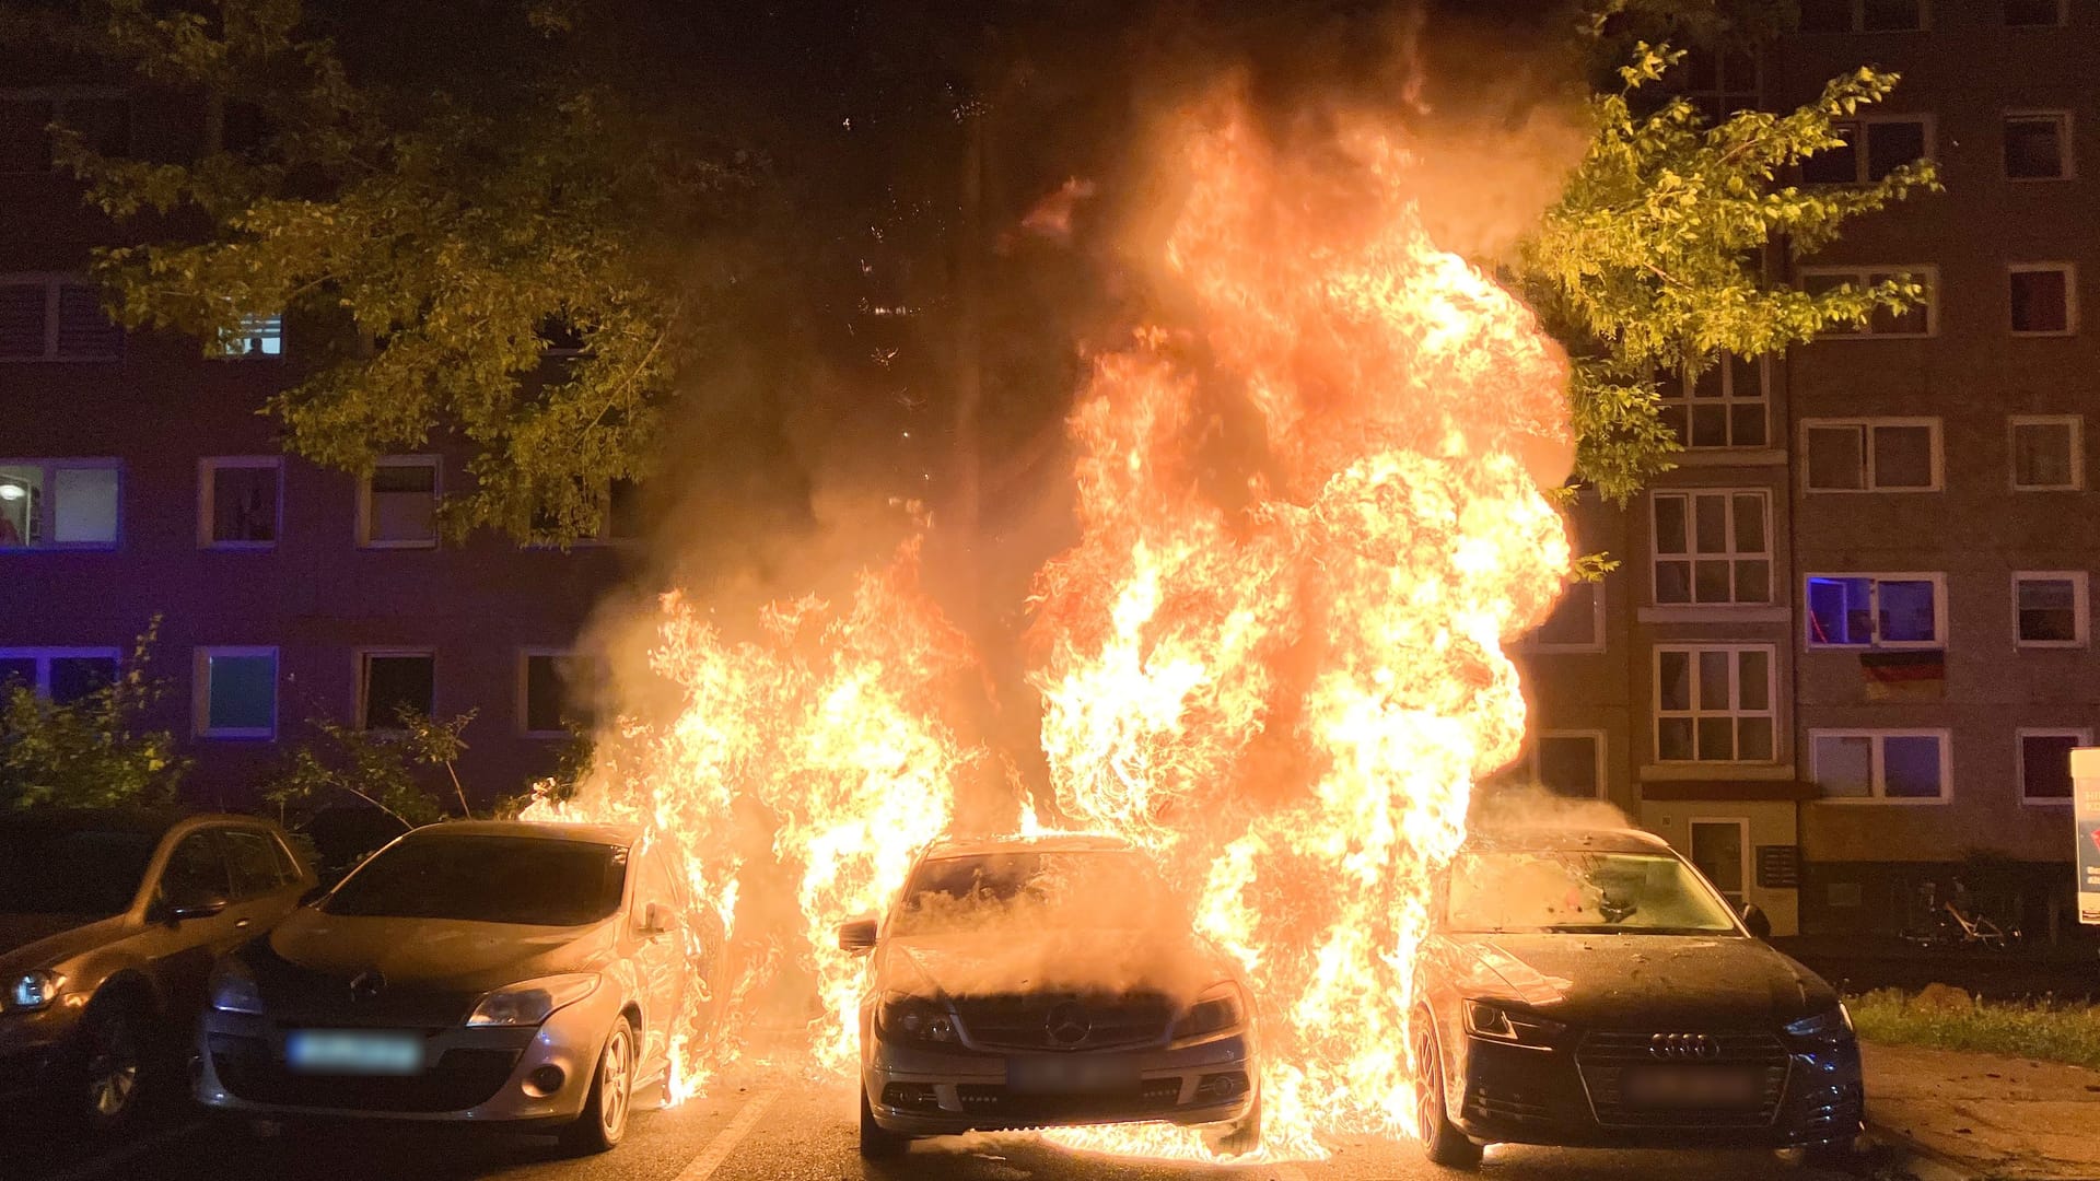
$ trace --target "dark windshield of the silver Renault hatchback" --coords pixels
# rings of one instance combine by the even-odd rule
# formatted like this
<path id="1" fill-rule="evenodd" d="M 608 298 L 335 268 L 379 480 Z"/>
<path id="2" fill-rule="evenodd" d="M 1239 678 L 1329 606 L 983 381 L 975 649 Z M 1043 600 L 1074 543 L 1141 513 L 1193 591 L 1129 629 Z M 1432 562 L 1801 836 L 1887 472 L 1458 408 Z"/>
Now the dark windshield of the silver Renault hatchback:
<path id="1" fill-rule="evenodd" d="M 620 910 L 628 851 L 538 836 L 410 836 L 351 874 L 321 910 L 582 927 Z"/>

